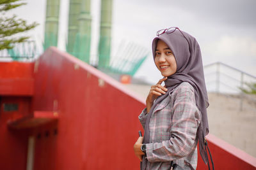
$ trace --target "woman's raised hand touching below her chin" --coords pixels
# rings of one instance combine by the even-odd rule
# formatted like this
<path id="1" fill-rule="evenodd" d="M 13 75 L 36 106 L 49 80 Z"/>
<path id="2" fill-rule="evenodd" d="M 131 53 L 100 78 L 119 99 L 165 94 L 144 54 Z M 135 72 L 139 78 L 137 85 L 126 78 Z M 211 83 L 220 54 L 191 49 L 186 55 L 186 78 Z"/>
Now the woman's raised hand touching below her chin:
<path id="1" fill-rule="evenodd" d="M 146 100 L 146 105 L 147 105 L 147 113 L 149 113 L 154 100 L 158 97 L 161 96 L 162 94 L 165 94 L 167 92 L 168 89 L 166 89 L 165 87 L 163 87 L 161 85 L 161 83 L 163 83 L 164 80 L 167 80 L 167 77 L 161 78 L 156 85 L 152 85 L 147 100 Z"/>

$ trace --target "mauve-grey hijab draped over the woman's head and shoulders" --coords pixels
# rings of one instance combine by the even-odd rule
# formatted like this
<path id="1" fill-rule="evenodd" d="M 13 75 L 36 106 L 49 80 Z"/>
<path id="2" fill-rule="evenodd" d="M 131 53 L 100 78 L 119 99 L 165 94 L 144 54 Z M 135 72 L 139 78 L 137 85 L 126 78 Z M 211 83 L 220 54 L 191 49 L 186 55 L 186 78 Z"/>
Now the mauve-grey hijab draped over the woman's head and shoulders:
<path id="1" fill-rule="evenodd" d="M 180 83 L 186 81 L 190 83 L 195 89 L 196 106 L 198 107 L 202 114 L 202 121 L 200 122 L 196 135 L 199 139 L 200 155 L 204 162 L 206 163 L 207 159 L 206 151 L 204 149 L 204 139 L 205 136 L 209 133 L 208 118 L 206 111 L 206 108 L 209 106 L 209 103 L 207 90 L 205 87 L 202 56 L 200 46 L 198 45 L 196 39 L 184 31 L 182 31 L 182 33 L 178 29 L 176 29 L 172 33 L 165 32 L 164 34 L 161 34 L 160 36 L 153 39 L 153 57 L 155 57 L 157 41 L 158 39 L 161 39 L 172 50 L 173 55 L 175 56 L 177 62 L 177 71 L 171 76 L 168 76 L 168 79 L 164 81 L 166 88 L 168 89 L 168 92 L 166 92 L 166 94 L 164 95 L 157 97 L 156 101 L 154 102 L 152 108 L 148 113 L 145 124 L 145 134 L 143 143 L 150 142 L 149 122 L 156 105 L 158 103 L 161 103 L 161 101 L 163 101 L 163 99 L 167 97 L 169 92 L 175 89 L 175 87 L 177 87 Z M 141 169 L 145 169 L 146 164 L 147 159 L 143 157 Z"/>

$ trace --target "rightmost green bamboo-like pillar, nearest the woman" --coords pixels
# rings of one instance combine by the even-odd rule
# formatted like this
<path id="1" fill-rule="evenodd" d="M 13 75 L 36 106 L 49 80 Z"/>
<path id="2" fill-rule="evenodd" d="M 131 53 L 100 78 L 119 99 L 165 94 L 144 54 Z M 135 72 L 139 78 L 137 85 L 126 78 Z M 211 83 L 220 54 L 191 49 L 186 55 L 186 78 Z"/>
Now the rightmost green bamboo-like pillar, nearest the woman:
<path id="1" fill-rule="evenodd" d="M 112 0 L 101 0 L 99 68 L 109 67 L 111 52 Z"/>

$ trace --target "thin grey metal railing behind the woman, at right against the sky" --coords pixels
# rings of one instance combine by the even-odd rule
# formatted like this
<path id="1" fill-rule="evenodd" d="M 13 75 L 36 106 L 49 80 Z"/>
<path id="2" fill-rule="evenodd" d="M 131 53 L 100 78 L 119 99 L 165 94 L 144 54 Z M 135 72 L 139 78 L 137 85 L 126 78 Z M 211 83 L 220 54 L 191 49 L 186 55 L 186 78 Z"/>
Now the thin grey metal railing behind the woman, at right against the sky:
<path id="1" fill-rule="evenodd" d="M 240 110 L 243 110 L 244 98 L 255 101 L 255 97 L 246 95 L 242 89 L 248 89 L 248 83 L 256 83 L 256 76 L 223 62 L 214 62 L 204 66 L 205 83 L 209 92 L 237 94 L 240 97 Z M 214 78 L 212 80 L 212 78 Z M 250 87 L 253 90 L 253 87 Z"/>

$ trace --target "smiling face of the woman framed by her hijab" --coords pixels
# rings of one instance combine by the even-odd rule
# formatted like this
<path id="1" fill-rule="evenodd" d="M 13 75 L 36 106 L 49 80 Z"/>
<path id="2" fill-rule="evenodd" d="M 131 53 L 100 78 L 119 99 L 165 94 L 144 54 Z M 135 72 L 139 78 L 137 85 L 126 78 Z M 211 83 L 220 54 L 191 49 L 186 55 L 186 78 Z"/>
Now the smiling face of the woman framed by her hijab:
<path id="1" fill-rule="evenodd" d="M 164 43 L 164 41 L 161 39 L 157 41 L 155 53 L 155 63 L 157 69 L 161 71 L 163 76 L 171 76 L 177 71 L 175 57 L 168 45 L 166 45 L 166 43 Z"/>

